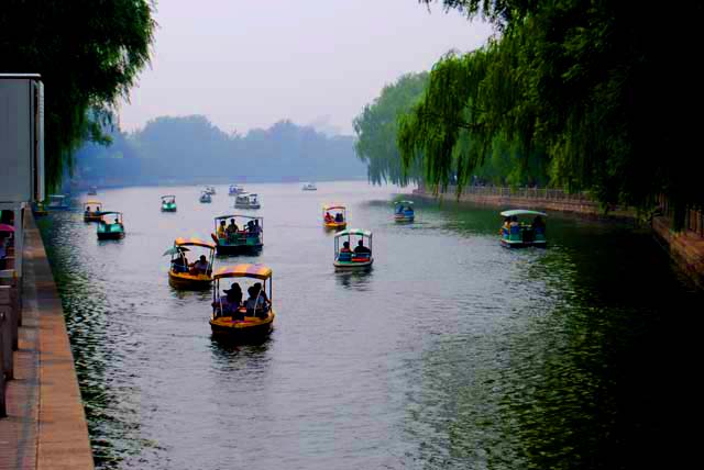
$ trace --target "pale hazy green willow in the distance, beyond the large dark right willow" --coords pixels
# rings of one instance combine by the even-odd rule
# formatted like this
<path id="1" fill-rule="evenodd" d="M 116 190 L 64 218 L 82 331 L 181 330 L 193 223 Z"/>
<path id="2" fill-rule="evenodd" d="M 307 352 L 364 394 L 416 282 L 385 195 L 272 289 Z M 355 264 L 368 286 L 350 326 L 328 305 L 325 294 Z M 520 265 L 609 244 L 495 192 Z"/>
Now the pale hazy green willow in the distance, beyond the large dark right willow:
<path id="1" fill-rule="evenodd" d="M 375 184 L 391 181 L 406 186 L 422 179 L 419 166 L 402 165 L 396 147 L 398 116 L 420 100 L 428 82 L 428 74 L 407 74 L 382 90 L 378 98 L 354 119 L 358 157 L 367 164 L 367 176 Z"/>

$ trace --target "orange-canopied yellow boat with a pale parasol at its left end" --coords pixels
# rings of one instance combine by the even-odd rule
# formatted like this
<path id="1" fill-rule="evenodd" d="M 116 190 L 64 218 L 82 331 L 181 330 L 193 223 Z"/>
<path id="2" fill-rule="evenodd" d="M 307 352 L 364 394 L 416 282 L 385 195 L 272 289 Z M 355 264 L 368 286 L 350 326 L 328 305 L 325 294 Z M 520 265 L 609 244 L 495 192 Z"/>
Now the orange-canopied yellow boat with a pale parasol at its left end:
<path id="1" fill-rule="evenodd" d="M 186 251 L 194 253 L 194 248 L 201 248 L 201 256 L 208 262 L 207 268 L 198 271 L 197 267 L 191 268 L 188 262 Z M 175 289 L 204 290 L 209 289 L 212 283 L 212 261 L 216 246 L 211 242 L 200 238 L 176 238 L 174 246 L 166 250 L 164 255 L 172 255 L 170 267 L 168 269 L 168 283 Z M 191 261 L 199 259 L 198 253 L 191 257 Z"/>

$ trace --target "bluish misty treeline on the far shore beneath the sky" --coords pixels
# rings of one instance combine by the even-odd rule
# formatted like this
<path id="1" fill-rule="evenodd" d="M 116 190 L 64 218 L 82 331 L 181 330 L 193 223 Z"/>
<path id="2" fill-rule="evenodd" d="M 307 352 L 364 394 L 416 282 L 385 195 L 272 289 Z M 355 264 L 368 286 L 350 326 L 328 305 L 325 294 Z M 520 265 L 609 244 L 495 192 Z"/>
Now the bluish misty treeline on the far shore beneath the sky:
<path id="1" fill-rule="evenodd" d="M 280 121 L 245 135 L 227 134 L 202 115 L 157 118 L 144 128 L 108 132 L 109 146 L 76 154 L 81 186 L 358 179 L 366 168 L 354 137 L 328 136 Z"/>

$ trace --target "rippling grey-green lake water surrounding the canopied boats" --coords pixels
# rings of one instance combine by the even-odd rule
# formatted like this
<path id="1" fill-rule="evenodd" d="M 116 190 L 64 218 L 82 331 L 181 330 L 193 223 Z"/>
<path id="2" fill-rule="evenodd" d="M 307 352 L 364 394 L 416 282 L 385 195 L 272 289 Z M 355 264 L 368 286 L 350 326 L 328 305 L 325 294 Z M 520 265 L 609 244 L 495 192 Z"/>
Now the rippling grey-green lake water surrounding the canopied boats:
<path id="1" fill-rule="evenodd" d="M 211 335 L 210 292 L 167 282 L 178 236 L 232 209 L 199 187 L 100 190 L 127 237 L 80 210 L 40 221 L 99 469 L 641 469 L 686 455 L 703 295 L 645 231 L 550 213 L 544 250 L 507 250 L 496 210 L 365 182 L 246 184 L 273 269 L 275 329 Z M 175 194 L 178 212 L 162 213 Z M 321 208 L 374 233 L 374 268 L 336 273 Z"/>

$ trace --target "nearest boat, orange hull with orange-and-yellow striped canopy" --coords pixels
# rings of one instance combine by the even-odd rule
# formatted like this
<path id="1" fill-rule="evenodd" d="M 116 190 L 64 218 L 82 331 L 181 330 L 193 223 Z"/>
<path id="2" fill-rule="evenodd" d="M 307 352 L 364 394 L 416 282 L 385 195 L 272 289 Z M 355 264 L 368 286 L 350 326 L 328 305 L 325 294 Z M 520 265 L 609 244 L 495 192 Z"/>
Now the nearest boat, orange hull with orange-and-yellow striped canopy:
<path id="1" fill-rule="evenodd" d="M 256 294 L 257 305 L 246 309 L 241 304 L 228 302 L 226 295 L 220 295 L 220 282 L 226 279 L 252 279 L 262 284 Z M 210 327 L 213 334 L 229 335 L 238 338 L 249 338 L 267 335 L 274 325 L 276 313 L 274 312 L 272 295 L 272 269 L 264 265 L 235 265 L 220 268 L 212 277 L 212 314 Z M 268 293 L 267 293 L 268 284 Z M 244 291 L 246 292 L 246 290 Z M 263 298 L 260 305 L 260 298 Z M 246 304 L 246 303 L 245 303 Z"/>

